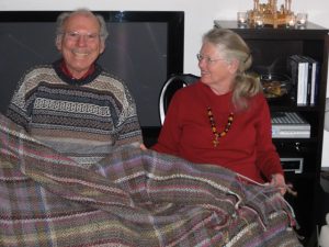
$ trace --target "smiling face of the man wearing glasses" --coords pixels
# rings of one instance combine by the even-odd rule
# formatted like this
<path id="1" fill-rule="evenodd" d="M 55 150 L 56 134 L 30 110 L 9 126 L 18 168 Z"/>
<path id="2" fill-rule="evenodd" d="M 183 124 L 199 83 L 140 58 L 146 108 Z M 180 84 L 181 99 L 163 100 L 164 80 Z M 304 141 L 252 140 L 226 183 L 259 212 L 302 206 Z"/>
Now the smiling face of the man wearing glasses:
<path id="1" fill-rule="evenodd" d="M 81 13 L 71 15 L 65 23 L 57 48 L 72 76 L 81 78 L 104 50 L 97 18 Z"/>

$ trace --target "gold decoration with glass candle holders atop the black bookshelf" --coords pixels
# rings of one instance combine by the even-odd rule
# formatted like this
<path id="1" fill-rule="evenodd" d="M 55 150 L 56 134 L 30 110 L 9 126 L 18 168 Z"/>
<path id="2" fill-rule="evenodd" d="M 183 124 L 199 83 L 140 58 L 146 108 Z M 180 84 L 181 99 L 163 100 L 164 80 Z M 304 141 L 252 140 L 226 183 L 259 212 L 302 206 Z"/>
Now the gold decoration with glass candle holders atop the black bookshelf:
<path id="1" fill-rule="evenodd" d="M 277 0 L 268 0 L 268 3 L 260 3 L 259 0 L 253 0 L 253 10 L 248 11 L 248 23 L 254 26 L 291 26 L 291 21 L 295 20 L 295 15 L 291 10 L 291 7 L 292 0 L 285 0 L 284 4 L 282 4 L 279 9 Z"/>

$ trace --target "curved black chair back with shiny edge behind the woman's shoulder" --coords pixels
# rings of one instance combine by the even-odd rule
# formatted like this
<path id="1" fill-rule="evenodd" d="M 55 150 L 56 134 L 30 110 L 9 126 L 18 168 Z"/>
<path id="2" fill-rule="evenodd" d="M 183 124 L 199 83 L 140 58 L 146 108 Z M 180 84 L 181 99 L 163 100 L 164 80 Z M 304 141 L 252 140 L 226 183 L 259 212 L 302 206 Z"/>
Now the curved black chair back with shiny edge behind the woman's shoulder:
<path id="1" fill-rule="evenodd" d="M 170 103 L 171 98 L 177 90 L 186 87 L 200 79 L 200 77 L 192 74 L 178 74 L 172 75 L 162 86 L 159 98 L 159 113 L 161 124 L 164 122 L 164 116 Z"/>

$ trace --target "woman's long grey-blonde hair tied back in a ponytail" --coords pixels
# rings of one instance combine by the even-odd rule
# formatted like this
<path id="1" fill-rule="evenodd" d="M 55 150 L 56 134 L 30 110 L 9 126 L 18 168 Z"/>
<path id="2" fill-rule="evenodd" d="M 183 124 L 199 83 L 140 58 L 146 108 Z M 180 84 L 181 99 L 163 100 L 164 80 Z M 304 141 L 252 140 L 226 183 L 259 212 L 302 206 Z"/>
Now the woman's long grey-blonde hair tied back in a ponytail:
<path id="1" fill-rule="evenodd" d="M 215 45 L 224 59 L 239 61 L 232 88 L 232 103 L 237 110 L 248 108 L 248 99 L 262 92 L 259 78 L 248 75 L 252 56 L 246 42 L 231 30 L 214 27 L 203 36 L 203 43 Z"/>

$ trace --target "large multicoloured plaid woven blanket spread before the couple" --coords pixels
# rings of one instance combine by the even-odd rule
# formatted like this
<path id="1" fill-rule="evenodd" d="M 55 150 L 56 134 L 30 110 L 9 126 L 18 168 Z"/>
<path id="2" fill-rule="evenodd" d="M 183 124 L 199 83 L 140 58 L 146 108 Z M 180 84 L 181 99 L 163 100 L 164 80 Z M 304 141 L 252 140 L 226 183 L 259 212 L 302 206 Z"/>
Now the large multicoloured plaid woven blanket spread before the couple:
<path id="1" fill-rule="evenodd" d="M 122 146 L 86 168 L 0 115 L 0 246 L 302 246 L 272 187 Z"/>

